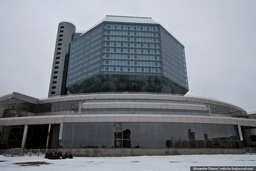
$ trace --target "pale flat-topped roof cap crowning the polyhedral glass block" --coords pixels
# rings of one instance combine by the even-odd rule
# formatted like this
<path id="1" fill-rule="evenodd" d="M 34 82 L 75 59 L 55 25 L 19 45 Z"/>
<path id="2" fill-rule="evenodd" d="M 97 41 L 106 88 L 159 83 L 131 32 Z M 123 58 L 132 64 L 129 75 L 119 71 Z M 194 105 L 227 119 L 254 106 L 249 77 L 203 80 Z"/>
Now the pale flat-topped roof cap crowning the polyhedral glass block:
<path id="1" fill-rule="evenodd" d="M 131 17 L 120 15 L 106 15 L 106 17 L 103 18 L 103 21 L 158 24 L 151 17 Z"/>

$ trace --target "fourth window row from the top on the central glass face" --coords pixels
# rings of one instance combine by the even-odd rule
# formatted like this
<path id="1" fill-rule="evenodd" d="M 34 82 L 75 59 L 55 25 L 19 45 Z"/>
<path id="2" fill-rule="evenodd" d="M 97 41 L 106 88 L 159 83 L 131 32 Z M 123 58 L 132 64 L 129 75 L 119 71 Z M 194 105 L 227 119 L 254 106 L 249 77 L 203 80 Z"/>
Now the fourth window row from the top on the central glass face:
<path id="1" fill-rule="evenodd" d="M 137 44 L 137 43 L 126 43 L 126 42 L 106 42 L 106 46 L 111 46 L 111 47 L 140 47 L 140 48 L 159 48 L 158 44 Z"/>

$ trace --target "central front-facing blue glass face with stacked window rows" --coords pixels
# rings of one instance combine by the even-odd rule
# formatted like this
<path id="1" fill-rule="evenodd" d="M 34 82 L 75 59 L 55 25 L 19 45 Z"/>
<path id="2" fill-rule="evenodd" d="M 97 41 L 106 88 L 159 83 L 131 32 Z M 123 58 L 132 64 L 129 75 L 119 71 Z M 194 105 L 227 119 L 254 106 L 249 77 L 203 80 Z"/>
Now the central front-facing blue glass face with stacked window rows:
<path id="1" fill-rule="evenodd" d="M 104 25 L 101 71 L 115 74 L 161 75 L 158 25 Z"/>

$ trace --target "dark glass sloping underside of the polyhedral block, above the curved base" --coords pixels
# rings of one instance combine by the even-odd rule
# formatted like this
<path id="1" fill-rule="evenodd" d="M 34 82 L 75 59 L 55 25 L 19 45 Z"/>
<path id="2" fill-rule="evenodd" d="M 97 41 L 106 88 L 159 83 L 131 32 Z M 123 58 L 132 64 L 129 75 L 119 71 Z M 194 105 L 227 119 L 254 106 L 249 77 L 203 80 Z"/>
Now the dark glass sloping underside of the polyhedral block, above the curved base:
<path id="1" fill-rule="evenodd" d="M 99 74 L 80 83 L 67 85 L 67 88 L 73 94 L 123 91 L 185 94 L 188 91 L 160 74 Z"/>

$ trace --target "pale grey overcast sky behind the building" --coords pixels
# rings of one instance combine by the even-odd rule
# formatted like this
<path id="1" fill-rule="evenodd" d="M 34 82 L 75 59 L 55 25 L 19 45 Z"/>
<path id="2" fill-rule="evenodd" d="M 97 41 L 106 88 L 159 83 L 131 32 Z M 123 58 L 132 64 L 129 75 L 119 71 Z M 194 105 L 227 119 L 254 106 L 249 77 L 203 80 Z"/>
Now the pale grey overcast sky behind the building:
<path id="1" fill-rule="evenodd" d="M 0 96 L 48 96 L 57 26 L 86 31 L 105 15 L 152 17 L 185 45 L 188 95 L 256 111 L 256 1 L 4 1 Z"/>

